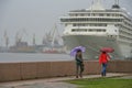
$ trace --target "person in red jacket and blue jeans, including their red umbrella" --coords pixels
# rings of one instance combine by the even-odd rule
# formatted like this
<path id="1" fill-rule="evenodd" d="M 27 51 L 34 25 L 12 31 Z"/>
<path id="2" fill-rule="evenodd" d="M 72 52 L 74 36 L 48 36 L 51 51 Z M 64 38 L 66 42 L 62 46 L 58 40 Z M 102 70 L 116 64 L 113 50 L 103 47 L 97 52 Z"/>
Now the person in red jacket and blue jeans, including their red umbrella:
<path id="1" fill-rule="evenodd" d="M 100 51 L 101 51 L 101 54 L 99 56 L 99 63 L 102 65 L 101 76 L 106 76 L 108 61 L 110 61 L 110 56 L 107 53 L 112 53 L 113 48 L 103 47 Z"/>

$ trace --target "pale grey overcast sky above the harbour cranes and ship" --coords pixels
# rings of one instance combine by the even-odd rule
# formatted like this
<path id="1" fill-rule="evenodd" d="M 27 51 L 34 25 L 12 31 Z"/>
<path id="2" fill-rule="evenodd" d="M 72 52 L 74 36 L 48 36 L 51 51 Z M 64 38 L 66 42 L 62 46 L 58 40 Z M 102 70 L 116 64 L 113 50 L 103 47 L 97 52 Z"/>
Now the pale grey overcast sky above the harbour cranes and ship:
<path id="1" fill-rule="evenodd" d="M 111 8 L 114 0 L 102 0 L 106 8 Z M 0 0 L 0 45 L 4 45 L 3 34 L 7 30 L 10 44 L 14 44 L 15 33 L 20 32 L 23 41 L 32 44 L 35 33 L 36 44 L 42 43 L 45 32 L 54 24 L 59 24 L 59 16 L 69 10 L 88 9 L 91 0 Z M 120 0 L 120 6 L 132 13 L 132 0 Z"/>

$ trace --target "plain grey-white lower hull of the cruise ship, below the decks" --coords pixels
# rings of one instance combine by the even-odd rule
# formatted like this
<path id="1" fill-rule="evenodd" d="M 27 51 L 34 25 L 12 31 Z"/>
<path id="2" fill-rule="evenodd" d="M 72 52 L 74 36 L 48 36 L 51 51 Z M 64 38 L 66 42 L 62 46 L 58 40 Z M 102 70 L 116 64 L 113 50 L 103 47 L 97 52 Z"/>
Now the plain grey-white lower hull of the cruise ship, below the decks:
<path id="1" fill-rule="evenodd" d="M 96 59 L 100 54 L 101 47 L 112 47 L 113 53 L 110 56 L 114 59 L 122 59 L 131 57 L 132 47 L 120 43 L 116 36 L 100 36 L 100 35 L 65 35 L 63 36 L 64 43 L 67 45 L 67 50 L 70 51 L 76 46 L 85 46 L 84 53 L 85 59 Z"/>

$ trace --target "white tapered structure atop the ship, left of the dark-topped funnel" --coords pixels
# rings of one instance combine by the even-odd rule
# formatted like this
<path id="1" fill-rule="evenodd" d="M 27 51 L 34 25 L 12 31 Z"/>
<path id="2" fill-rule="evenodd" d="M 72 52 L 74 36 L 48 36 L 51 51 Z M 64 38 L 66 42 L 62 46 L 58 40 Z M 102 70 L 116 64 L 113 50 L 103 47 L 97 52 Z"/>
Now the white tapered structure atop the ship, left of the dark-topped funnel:
<path id="1" fill-rule="evenodd" d="M 105 10 L 103 6 L 101 4 L 101 0 L 92 0 L 90 10 Z"/>

